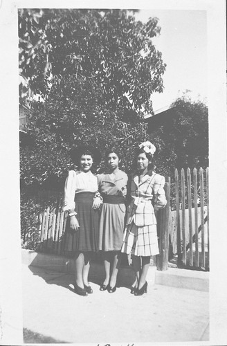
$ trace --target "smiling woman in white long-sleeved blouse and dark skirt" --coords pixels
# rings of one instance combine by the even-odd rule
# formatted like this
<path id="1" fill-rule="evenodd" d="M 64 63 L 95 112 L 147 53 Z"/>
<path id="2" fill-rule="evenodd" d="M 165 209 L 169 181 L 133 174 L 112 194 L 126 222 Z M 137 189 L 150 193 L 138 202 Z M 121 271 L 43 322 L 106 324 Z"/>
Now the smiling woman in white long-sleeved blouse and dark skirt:
<path id="1" fill-rule="evenodd" d="M 79 170 L 69 171 L 64 188 L 63 210 L 68 212 L 65 249 L 75 253 L 75 293 L 88 295 L 93 292 L 88 275 L 91 253 L 98 251 L 98 208 L 102 201 L 91 167 L 100 161 L 100 153 L 88 146 L 78 147 L 72 159 Z"/>

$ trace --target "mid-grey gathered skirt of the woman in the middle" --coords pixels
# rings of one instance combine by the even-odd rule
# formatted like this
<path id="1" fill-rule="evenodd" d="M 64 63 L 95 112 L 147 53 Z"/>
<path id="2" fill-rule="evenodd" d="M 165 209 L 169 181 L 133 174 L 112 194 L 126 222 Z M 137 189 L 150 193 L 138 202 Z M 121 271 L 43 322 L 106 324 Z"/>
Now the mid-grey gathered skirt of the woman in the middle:
<path id="1" fill-rule="evenodd" d="M 100 251 L 120 251 L 125 228 L 125 211 L 123 203 L 103 203 L 99 224 Z"/>

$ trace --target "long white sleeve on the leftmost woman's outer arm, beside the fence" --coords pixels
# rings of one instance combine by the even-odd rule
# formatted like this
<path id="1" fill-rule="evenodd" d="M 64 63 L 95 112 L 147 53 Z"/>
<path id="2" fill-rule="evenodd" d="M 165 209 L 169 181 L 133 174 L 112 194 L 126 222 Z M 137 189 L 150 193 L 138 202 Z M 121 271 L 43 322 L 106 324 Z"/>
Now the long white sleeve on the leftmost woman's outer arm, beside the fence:
<path id="1" fill-rule="evenodd" d="M 75 177 L 75 171 L 69 171 L 64 184 L 64 205 L 62 208 L 64 212 L 75 210 Z"/>

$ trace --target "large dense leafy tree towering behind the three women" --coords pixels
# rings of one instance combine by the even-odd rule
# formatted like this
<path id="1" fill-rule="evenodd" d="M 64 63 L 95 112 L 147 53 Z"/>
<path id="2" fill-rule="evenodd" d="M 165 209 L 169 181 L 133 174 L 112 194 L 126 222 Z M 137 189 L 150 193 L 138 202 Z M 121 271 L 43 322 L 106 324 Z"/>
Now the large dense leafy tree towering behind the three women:
<path id="1" fill-rule="evenodd" d="M 19 12 L 23 95 L 44 99 L 30 102 L 26 184 L 61 180 L 79 143 L 118 145 L 131 167 L 135 145 L 147 138 L 141 107 L 152 112 L 150 96 L 163 90 L 165 64 L 152 44 L 160 30 L 157 19 L 142 24 L 126 10 Z"/>

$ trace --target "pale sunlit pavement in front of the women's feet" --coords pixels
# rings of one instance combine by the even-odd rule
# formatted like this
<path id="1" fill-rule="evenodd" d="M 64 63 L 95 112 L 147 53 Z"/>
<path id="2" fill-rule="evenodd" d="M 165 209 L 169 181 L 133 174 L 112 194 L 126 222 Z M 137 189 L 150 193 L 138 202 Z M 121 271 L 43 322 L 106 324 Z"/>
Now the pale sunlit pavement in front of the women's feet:
<path id="1" fill-rule="evenodd" d="M 110 294 L 91 282 L 93 294 L 80 297 L 72 275 L 25 264 L 22 269 L 24 327 L 56 342 L 208 340 L 208 292 L 156 284 L 135 297 L 126 287 Z"/>

